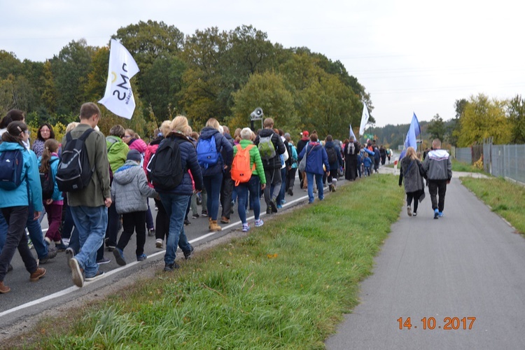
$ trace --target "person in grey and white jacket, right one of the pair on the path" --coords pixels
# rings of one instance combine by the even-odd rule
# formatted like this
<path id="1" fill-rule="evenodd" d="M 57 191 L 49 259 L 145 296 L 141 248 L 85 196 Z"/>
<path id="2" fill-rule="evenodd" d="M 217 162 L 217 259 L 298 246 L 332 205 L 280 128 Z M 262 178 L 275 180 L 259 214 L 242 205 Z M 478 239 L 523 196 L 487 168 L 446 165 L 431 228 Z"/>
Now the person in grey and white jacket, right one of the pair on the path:
<path id="1" fill-rule="evenodd" d="M 429 151 L 423 162 L 423 171 L 428 179 L 428 193 L 432 201 L 434 218 L 441 218 L 444 209 L 444 195 L 447 184 L 452 179 L 452 163 L 449 153 L 441 148 L 440 139 L 432 141 L 432 151 Z M 437 200 L 439 195 L 439 200 Z"/>

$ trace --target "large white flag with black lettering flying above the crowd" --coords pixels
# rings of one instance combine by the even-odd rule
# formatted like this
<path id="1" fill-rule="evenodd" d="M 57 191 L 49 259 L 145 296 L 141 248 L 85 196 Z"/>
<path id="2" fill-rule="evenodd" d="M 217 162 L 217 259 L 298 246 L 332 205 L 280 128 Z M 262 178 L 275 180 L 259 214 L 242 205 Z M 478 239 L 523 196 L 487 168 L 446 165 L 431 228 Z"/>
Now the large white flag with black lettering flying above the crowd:
<path id="1" fill-rule="evenodd" d="M 111 39 L 109 51 L 108 83 L 104 97 L 99 101 L 117 116 L 131 119 L 135 110 L 135 99 L 130 79 L 139 72 L 139 66 L 126 48 Z"/>

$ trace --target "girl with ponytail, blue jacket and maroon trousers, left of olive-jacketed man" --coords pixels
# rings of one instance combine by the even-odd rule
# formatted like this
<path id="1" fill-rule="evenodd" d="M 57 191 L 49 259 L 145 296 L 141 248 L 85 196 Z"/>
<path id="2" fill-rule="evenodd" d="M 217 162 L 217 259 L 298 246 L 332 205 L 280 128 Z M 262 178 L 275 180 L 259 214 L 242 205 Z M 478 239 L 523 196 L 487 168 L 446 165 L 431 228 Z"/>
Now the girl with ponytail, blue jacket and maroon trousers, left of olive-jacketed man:
<path id="1" fill-rule="evenodd" d="M 45 232 L 44 239 L 48 244 L 54 241 L 58 251 L 65 251 L 67 247 L 62 242 L 59 231 L 60 222 L 62 221 L 64 197 L 62 197 L 62 192 L 58 190 L 57 181 L 55 181 L 58 169 L 58 148 L 59 144 L 57 140 L 48 139 L 45 141 L 42 156 L 38 158 L 38 169 L 41 174 L 49 174 L 52 176 L 52 181 L 55 184 L 51 198 L 43 200 L 43 206 L 45 213 L 48 214 L 49 224 L 48 232 Z"/>

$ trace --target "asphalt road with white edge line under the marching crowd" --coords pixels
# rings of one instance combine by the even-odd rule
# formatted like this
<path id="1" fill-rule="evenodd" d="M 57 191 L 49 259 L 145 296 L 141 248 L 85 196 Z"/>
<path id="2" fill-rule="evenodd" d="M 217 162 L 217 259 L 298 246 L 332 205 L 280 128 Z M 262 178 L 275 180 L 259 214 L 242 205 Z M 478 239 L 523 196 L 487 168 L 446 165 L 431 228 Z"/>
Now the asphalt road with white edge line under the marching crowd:
<path id="1" fill-rule="evenodd" d="M 344 183 L 344 180 L 339 181 Z M 282 210 L 286 210 L 297 204 L 304 204 L 307 200 L 307 193 L 299 188 L 299 181 L 296 179 L 294 195 L 286 195 L 287 203 Z M 153 200 L 151 200 L 151 208 L 153 209 Z M 201 207 L 199 206 L 199 212 Z M 261 218 L 265 220 L 266 204 L 261 203 Z M 190 212 L 191 213 L 191 212 Z M 152 211 L 153 216 L 156 216 L 156 211 Z M 221 216 L 221 208 L 219 209 L 219 216 Z M 208 230 L 208 218 L 201 217 L 192 219 L 190 216 L 191 225 L 185 227 L 188 240 L 193 246 L 198 247 L 200 244 L 208 241 L 218 239 L 228 235 L 232 230 L 241 228 L 241 222 L 237 214 L 237 206 L 235 207 L 235 214 L 231 216 L 230 224 L 221 224 L 223 230 L 221 232 L 210 233 Z M 248 213 L 248 223 L 251 225 L 251 230 L 256 230 L 253 225 L 253 212 Z M 43 228 L 46 228 L 46 222 L 43 221 Z M 120 279 L 124 279 L 130 274 L 134 274 L 140 269 L 155 265 L 158 269 L 164 267 L 163 249 L 155 248 L 155 237 L 146 237 L 146 246 L 144 247 L 148 259 L 144 262 L 137 262 L 135 258 L 135 235 L 125 249 L 125 258 L 128 264 L 125 267 L 117 265 L 113 253 L 105 252 L 106 258 L 110 258 L 111 262 L 102 265 L 102 270 L 106 272 L 102 279 L 97 281 L 85 283 L 83 288 L 73 286 L 71 281 L 71 270 L 66 263 L 65 253 L 58 253 L 57 257 L 49 260 L 49 262 L 42 267 L 47 269 L 46 275 L 38 282 L 29 282 L 29 274 L 24 268 L 20 255 L 15 253 L 13 258 L 13 272 L 9 272 L 6 276 L 6 284 L 11 288 L 11 292 L 5 295 L 0 295 L 0 336 L 8 332 L 6 329 L 9 325 L 17 323 L 18 321 L 28 316 L 35 316 L 41 314 L 46 309 L 58 307 L 69 300 L 82 298 L 83 295 L 97 291 L 99 288 L 115 283 Z M 33 250 L 34 252 L 34 250 Z M 198 254 L 198 248 L 197 252 Z M 182 255 L 181 251 L 177 253 L 177 258 Z"/>

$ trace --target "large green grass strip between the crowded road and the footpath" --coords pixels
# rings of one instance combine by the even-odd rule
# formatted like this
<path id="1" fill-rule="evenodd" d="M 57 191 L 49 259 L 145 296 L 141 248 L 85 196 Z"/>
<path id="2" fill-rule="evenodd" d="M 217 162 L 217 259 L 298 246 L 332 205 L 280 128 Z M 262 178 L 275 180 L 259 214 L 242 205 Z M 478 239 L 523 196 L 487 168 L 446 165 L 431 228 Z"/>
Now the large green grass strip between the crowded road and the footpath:
<path id="1" fill-rule="evenodd" d="M 11 346 L 28 349 L 323 349 L 358 304 L 358 282 L 398 220 L 391 175 L 337 188 L 86 307 L 46 320 Z M 73 321 L 75 320 L 75 321 Z"/>

